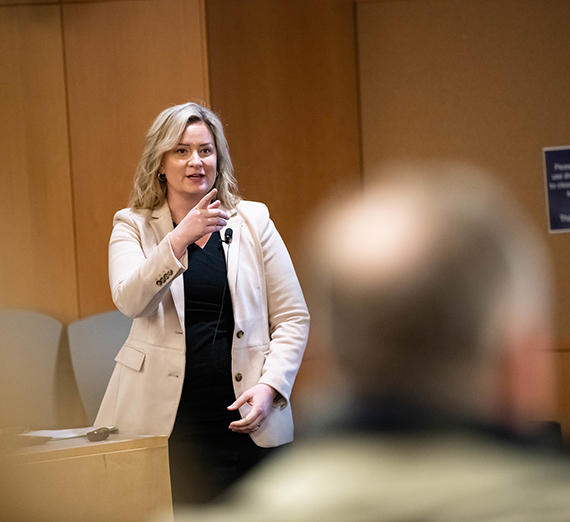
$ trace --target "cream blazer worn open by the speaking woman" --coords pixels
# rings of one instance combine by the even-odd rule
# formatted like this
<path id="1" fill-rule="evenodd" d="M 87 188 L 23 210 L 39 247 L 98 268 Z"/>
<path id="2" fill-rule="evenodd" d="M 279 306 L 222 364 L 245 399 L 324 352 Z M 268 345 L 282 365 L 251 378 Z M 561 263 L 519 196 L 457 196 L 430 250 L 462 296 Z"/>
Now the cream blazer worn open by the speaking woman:
<path id="1" fill-rule="evenodd" d="M 258 446 L 293 440 L 289 397 L 309 333 L 309 313 L 293 264 L 267 207 L 242 201 L 224 244 L 235 330 L 232 378 L 236 397 L 264 383 L 280 397 L 251 435 Z M 187 254 L 178 260 L 166 238 L 173 229 L 168 205 L 115 214 L 109 244 L 113 301 L 133 325 L 96 425 L 122 433 L 170 435 L 185 370 L 184 284 Z M 225 229 L 220 232 L 224 237 Z M 249 405 L 240 408 L 245 416 Z"/>

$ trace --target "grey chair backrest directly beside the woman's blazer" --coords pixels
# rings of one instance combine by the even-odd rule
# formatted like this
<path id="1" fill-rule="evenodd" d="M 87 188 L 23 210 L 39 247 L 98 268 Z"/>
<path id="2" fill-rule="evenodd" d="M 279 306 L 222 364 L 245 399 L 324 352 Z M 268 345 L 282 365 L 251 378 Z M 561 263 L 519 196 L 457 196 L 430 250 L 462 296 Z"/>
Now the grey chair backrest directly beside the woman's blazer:
<path id="1" fill-rule="evenodd" d="M 73 371 L 90 423 L 95 421 L 115 367 L 115 357 L 131 325 L 131 318 L 114 311 L 86 317 L 68 326 Z"/>

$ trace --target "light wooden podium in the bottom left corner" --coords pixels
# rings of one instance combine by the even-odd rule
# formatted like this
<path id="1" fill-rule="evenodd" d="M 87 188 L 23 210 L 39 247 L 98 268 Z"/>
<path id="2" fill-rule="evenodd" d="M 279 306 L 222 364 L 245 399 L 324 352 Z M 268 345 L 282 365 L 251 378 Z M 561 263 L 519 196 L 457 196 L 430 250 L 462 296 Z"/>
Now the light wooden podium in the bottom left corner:
<path id="1" fill-rule="evenodd" d="M 9 477 L 3 473 L 2 482 L 17 520 L 172 518 L 167 437 L 50 441 L 17 450 L 8 464 Z"/>

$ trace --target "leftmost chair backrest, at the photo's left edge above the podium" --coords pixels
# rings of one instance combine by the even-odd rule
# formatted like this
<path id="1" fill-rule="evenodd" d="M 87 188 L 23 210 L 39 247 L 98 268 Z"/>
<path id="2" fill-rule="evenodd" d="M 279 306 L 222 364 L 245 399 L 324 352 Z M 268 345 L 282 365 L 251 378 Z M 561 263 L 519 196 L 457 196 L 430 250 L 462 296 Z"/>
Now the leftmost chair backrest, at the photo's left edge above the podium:
<path id="1" fill-rule="evenodd" d="M 57 427 L 62 324 L 32 310 L 0 310 L 0 426 Z"/>

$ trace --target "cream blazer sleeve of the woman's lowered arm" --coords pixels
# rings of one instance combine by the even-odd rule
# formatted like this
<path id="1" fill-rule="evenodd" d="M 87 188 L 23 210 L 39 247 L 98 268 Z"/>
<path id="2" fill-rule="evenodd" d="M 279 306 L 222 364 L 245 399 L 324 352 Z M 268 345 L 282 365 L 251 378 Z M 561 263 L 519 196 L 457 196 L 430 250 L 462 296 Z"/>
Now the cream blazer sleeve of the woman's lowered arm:
<path id="1" fill-rule="evenodd" d="M 267 207 L 263 205 L 262 208 L 264 215 L 259 239 L 270 342 L 259 382 L 277 390 L 281 397 L 274 405 L 285 408 L 307 344 L 309 311 L 285 243 L 269 218 Z"/>

